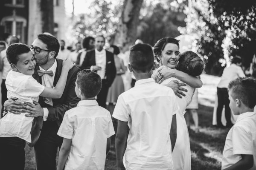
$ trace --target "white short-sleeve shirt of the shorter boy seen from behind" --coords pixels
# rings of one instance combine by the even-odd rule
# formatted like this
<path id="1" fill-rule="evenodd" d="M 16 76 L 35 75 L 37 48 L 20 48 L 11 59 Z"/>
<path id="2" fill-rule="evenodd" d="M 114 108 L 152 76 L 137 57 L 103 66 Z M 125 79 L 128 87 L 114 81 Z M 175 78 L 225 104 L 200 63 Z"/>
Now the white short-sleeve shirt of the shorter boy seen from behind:
<path id="1" fill-rule="evenodd" d="M 81 100 L 68 110 L 57 134 L 72 139 L 65 170 L 104 170 L 107 139 L 115 131 L 111 114 L 96 100 Z"/>

